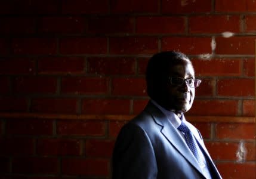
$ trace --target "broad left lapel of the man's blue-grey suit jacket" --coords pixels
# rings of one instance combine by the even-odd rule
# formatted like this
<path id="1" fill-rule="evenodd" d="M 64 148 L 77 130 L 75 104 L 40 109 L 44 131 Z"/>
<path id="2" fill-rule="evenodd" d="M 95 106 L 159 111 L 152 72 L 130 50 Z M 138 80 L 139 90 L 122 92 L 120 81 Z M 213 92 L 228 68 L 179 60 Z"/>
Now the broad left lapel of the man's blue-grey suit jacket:
<path id="1" fill-rule="evenodd" d="M 161 112 L 161 110 L 159 110 L 157 107 L 155 107 L 155 105 L 150 102 L 149 104 L 147 104 L 145 110 L 152 114 L 156 124 L 162 126 L 161 133 L 165 136 L 166 140 L 168 140 L 169 143 L 172 144 L 172 146 L 174 146 L 174 148 L 177 149 L 177 151 L 203 175 L 202 169 L 200 168 L 189 147 L 187 147 L 186 142 L 178 133 L 177 129 L 174 128 L 171 122 Z"/>

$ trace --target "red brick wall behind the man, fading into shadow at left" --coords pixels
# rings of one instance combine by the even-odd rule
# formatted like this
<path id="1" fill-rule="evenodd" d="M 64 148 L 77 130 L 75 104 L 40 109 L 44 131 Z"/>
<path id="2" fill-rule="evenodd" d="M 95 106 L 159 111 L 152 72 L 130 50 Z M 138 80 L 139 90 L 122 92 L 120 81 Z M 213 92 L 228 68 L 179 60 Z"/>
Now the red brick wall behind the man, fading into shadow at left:
<path id="1" fill-rule="evenodd" d="M 165 50 L 203 81 L 187 118 L 223 178 L 255 178 L 255 12 L 253 0 L 1 1 L 1 178 L 109 178 L 116 135 L 148 100 L 147 60 Z"/>

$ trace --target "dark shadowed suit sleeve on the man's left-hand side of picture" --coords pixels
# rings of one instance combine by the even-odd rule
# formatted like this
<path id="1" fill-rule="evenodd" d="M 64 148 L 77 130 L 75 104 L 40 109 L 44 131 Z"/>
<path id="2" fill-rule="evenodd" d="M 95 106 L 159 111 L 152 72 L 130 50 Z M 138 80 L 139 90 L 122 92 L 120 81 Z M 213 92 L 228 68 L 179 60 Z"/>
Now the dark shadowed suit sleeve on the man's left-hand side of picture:
<path id="1" fill-rule="evenodd" d="M 113 179 L 153 179 L 157 177 L 155 153 L 146 132 L 127 124 L 118 135 L 113 150 Z"/>

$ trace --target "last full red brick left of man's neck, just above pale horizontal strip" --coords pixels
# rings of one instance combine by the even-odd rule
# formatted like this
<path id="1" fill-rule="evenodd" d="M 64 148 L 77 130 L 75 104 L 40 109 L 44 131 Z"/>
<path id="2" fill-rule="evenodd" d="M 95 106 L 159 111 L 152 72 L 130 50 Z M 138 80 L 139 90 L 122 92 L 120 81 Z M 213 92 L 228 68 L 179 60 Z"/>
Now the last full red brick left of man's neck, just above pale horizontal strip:
<path id="1" fill-rule="evenodd" d="M 128 115 L 130 101 L 122 99 L 84 99 L 82 113 L 91 115 Z"/>

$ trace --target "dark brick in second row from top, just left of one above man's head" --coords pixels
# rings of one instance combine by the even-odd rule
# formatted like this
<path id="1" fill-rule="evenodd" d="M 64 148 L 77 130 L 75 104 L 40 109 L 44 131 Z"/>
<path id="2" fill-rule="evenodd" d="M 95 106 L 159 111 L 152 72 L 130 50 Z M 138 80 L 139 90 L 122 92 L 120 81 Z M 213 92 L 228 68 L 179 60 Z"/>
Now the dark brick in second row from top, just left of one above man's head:
<path id="1" fill-rule="evenodd" d="M 88 20 L 89 33 L 133 33 L 134 20 L 128 16 L 91 17 Z"/>

